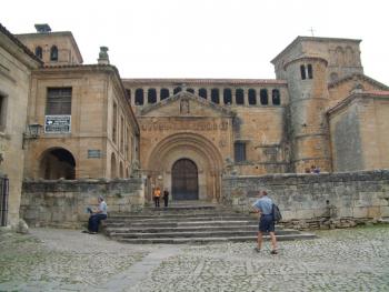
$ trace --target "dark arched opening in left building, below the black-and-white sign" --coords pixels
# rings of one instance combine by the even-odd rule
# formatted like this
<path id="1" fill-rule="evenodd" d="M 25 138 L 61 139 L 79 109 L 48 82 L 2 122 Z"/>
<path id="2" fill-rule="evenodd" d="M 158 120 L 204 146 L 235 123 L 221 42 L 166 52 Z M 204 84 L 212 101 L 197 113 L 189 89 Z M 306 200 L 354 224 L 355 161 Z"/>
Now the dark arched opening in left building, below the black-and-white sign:
<path id="1" fill-rule="evenodd" d="M 49 149 L 42 155 L 39 173 L 44 180 L 74 180 L 74 157 L 63 148 Z"/>

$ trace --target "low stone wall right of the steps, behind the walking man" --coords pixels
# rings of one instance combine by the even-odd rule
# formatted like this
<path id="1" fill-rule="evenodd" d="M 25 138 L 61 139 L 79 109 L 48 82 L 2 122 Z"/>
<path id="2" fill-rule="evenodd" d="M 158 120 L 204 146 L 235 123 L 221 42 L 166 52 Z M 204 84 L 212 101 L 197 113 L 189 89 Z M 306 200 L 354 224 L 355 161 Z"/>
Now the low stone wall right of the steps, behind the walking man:
<path id="1" fill-rule="evenodd" d="M 222 202 L 247 212 L 267 190 L 285 220 L 389 217 L 389 170 L 320 174 L 226 177 Z"/>

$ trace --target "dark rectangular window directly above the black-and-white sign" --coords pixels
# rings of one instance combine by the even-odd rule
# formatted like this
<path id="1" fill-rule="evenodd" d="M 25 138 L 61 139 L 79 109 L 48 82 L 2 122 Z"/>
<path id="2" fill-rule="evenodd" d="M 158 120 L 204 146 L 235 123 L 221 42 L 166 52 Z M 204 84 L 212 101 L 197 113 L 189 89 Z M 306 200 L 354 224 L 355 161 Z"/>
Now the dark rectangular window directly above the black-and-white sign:
<path id="1" fill-rule="evenodd" d="M 46 114 L 71 114 L 71 88 L 48 88 Z"/>

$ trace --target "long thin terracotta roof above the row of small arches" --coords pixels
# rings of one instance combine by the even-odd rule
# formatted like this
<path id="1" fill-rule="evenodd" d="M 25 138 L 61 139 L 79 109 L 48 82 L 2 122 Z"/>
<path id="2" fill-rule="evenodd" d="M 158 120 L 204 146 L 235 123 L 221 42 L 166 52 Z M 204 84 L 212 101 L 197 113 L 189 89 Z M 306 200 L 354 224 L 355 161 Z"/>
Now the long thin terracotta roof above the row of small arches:
<path id="1" fill-rule="evenodd" d="M 212 78 L 150 78 L 150 79 L 123 79 L 124 83 L 148 84 L 148 83 L 188 83 L 188 84 L 280 84 L 287 85 L 286 80 L 277 79 L 212 79 Z"/>

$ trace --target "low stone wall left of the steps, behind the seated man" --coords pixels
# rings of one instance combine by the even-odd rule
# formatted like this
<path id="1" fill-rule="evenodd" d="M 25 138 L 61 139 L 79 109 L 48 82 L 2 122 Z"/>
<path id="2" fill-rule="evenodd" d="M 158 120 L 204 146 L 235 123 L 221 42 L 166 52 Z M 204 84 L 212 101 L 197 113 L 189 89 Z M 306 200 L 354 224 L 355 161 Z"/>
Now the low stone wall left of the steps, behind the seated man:
<path id="1" fill-rule="evenodd" d="M 79 228 L 88 221 L 87 207 L 102 195 L 109 212 L 137 212 L 144 204 L 141 178 L 123 180 L 24 181 L 20 218 L 32 226 Z"/>

